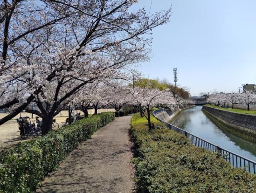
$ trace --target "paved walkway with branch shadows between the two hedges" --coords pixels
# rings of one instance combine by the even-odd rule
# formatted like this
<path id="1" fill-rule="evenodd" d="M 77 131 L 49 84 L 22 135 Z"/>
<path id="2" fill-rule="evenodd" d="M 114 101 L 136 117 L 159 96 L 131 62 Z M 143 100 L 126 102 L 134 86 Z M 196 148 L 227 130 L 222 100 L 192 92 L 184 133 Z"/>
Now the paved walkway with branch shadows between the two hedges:
<path id="1" fill-rule="evenodd" d="M 71 152 L 38 193 L 132 193 L 128 129 L 131 116 L 117 118 Z"/>

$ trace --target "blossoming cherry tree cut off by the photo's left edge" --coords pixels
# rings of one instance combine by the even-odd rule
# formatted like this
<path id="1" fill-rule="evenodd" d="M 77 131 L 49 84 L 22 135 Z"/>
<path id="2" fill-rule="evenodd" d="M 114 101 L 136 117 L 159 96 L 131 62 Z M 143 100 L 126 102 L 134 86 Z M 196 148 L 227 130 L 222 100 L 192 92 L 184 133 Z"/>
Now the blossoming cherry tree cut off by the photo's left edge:
<path id="1" fill-rule="evenodd" d="M 35 98 L 34 94 L 42 89 L 43 83 L 40 81 L 44 78 L 33 76 L 33 71 L 40 68 L 29 62 L 29 59 L 40 54 L 51 27 L 71 14 L 67 6 L 49 6 L 32 0 L 1 1 L 0 108 L 12 107 L 13 112 L 1 118 L 0 124 L 26 108 Z"/>

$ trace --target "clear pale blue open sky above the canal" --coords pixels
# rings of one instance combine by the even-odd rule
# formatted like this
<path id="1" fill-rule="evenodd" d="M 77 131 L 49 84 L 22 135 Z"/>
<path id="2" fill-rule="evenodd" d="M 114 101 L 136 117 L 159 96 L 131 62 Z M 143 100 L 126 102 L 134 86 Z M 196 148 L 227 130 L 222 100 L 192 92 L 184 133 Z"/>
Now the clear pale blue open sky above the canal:
<path id="1" fill-rule="evenodd" d="M 153 30 L 151 61 L 139 68 L 145 77 L 173 82 L 178 68 L 178 85 L 192 95 L 256 83 L 256 0 L 152 0 L 151 13 L 171 5 L 170 22 Z"/>

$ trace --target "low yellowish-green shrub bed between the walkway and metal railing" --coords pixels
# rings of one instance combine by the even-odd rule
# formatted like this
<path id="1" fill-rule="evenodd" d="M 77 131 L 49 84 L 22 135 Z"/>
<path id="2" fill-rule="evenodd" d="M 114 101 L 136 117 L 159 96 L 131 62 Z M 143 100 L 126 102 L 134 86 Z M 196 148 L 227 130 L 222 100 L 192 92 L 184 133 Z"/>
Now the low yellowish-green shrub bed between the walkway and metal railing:
<path id="1" fill-rule="evenodd" d="M 137 114 L 131 119 L 138 192 L 256 193 L 256 175 L 233 169 L 218 153 L 192 145 L 175 131 L 149 133 L 145 123 Z"/>

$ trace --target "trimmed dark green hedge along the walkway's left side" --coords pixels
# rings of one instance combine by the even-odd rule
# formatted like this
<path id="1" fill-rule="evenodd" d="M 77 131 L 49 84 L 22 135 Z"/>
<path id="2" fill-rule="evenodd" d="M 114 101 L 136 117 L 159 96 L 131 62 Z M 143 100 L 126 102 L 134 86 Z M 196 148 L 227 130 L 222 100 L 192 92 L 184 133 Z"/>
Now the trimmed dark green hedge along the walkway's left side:
<path id="1" fill-rule="evenodd" d="M 34 192 L 72 150 L 115 118 L 105 112 L 22 142 L 0 155 L 0 192 Z"/>

